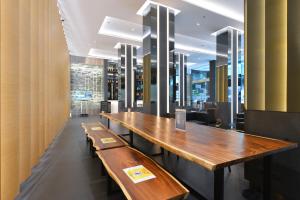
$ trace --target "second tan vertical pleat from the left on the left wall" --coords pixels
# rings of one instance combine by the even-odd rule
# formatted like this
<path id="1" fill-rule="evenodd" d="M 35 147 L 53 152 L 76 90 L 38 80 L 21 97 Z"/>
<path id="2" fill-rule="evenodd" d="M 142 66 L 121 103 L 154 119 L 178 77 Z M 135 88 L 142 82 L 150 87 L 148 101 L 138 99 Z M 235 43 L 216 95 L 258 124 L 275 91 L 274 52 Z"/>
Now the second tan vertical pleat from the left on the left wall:
<path id="1" fill-rule="evenodd" d="M 29 6 L 27 6 L 29 5 Z M 30 0 L 22 0 L 19 2 L 19 173 L 20 181 L 24 181 L 30 174 Z"/>

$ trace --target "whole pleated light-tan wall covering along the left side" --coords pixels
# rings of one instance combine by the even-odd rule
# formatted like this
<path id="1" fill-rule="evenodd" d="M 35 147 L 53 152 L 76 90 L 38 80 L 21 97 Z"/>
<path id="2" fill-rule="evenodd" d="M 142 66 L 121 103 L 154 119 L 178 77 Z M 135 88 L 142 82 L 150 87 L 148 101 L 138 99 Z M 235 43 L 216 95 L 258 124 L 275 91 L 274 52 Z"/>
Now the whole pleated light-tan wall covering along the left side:
<path id="1" fill-rule="evenodd" d="M 11 200 L 69 117 L 56 0 L 0 0 L 0 199 Z"/>

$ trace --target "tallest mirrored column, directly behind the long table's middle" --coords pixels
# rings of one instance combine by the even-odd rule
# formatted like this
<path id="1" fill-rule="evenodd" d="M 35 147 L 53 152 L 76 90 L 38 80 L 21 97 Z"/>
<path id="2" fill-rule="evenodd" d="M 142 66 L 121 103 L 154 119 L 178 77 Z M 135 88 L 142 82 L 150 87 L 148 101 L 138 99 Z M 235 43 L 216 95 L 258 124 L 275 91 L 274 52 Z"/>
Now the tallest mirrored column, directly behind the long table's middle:
<path id="1" fill-rule="evenodd" d="M 143 6 L 144 112 L 165 116 L 175 111 L 175 9 Z"/>

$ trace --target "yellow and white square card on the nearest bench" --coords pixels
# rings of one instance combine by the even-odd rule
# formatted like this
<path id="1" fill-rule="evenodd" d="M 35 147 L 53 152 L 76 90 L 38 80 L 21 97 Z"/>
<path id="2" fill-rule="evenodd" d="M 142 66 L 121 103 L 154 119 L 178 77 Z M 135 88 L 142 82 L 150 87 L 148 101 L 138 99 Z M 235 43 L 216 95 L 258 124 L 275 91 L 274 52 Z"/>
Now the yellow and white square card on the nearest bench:
<path id="1" fill-rule="evenodd" d="M 154 174 L 152 174 L 143 165 L 129 167 L 129 168 L 123 169 L 123 171 L 134 183 L 140 183 L 140 182 L 155 178 Z"/>

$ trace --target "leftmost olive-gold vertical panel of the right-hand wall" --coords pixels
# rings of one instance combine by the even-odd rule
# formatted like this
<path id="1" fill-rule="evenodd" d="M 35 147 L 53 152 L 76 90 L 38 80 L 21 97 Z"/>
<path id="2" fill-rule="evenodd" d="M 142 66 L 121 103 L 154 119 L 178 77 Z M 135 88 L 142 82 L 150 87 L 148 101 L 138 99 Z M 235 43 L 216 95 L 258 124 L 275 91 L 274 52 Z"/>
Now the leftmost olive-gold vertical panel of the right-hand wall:
<path id="1" fill-rule="evenodd" d="M 245 1 L 245 7 L 245 76 L 247 77 L 245 92 L 247 96 L 247 108 L 249 110 L 264 110 L 265 1 L 247 0 Z"/>

